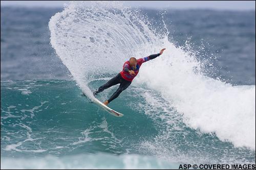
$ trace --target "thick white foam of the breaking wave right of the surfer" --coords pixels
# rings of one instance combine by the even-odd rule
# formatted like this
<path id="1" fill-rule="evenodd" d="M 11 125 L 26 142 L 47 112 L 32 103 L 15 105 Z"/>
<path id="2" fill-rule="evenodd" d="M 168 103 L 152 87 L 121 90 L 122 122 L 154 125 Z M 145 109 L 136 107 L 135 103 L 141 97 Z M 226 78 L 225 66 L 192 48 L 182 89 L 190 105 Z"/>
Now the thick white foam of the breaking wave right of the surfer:
<path id="1" fill-rule="evenodd" d="M 194 71 L 200 63 L 193 56 L 167 41 L 165 46 L 164 55 L 143 65 L 136 82 L 146 82 L 172 103 L 187 126 L 255 150 L 255 85 L 208 78 Z"/>

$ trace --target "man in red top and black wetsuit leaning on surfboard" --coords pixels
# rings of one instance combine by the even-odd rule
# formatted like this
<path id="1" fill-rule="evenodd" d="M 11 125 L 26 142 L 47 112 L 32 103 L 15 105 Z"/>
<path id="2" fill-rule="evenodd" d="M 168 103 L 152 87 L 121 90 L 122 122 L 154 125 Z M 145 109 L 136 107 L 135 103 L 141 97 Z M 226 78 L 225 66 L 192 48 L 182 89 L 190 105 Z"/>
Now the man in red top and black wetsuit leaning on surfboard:
<path id="1" fill-rule="evenodd" d="M 164 50 L 165 48 L 163 48 L 158 54 L 153 54 L 148 57 L 140 58 L 138 60 L 135 57 L 130 58 L 129 61 L 126 61 L 123 64 L 123 70 L 119 72 L 119 74 L 116 77 L 106 82 L 106 84 L 100 86 L 98 90 L 93 92 L 93 95 L 95 96 L 99 92 L 120 83 L 118 89 L 116 90 L 116 92 L 112 94 L 110 99 L 103 102 L 104 105 L 108 105 L 111 101 L 116 99 L 123 90 L 130 86 L 133 79 L 138 75 L 142 63 L 162 55 Z"/>

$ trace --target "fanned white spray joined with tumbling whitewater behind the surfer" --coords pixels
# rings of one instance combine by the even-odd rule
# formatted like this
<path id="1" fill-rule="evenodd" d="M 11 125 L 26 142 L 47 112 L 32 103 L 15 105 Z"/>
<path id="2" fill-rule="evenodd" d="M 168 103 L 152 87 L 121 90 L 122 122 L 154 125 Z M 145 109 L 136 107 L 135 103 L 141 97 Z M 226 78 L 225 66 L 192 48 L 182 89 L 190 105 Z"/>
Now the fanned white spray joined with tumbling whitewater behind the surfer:
<path id="1" fill-rule="evenodd" d="M 162 107 L 172 105 L 188 127 L 255 150 L 255 85 L 233 86 L 207 77 L 195 52 L 157 34 L 140 11 L 116 2 L 72 2 L 51 18 L 49 28 L 53 48 L 89 98 L 95 77 L 118 72 L 130 57 L 166 47 L 161 57 L 143 64 L 133 84 L 160 94 L 167 102 Z"/>

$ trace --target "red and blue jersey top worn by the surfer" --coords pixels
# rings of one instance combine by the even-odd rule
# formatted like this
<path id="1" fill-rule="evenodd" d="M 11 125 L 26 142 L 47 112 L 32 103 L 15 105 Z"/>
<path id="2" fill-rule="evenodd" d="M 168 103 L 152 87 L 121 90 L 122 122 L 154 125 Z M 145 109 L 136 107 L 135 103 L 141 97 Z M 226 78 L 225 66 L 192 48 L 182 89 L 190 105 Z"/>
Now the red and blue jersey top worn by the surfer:
<path id="1" fill-rule="evenodd" d="M 137 60 L 137 65 L 136 65 L 136 68 L 134 69 L 131 65 L 130 65 L 130 62 L 129 61 L 126 61 L 124 64 L 123 64 L 123 70 L 120 72 L 122 78 L 124 80 L 127 80 L 127 81 L 133 81 L 133 79 L 138 75 L 139 73 L 139 70 L 140 70 L 140 66 L 142 65 L 142 63 L 144 62 L 147 62 L 149 60 L 152 60 L 156 57 L 160 56 L 160 53 L 158 54 L 153 54 L 153 55 L 150 55 L 148 57 L 144 57 L 144 58 L 140 58 Z M 129 73 L 129 70 L 133 70 L 135 75 L 134 74 L 130 74 Z"/>

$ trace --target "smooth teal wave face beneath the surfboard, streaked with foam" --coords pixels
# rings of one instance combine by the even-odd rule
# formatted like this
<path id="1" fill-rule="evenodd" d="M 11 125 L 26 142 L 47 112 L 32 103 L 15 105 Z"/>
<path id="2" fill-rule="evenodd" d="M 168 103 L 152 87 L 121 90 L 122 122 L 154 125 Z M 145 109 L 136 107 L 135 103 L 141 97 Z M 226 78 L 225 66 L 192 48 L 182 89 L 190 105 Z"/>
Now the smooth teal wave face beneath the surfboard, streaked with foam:
<path id="1" fill-rule="evenodd" d="M 95 79 L 89 86 L 96 88 L 108 79 Z M 98 98 L 103 101 L 116 88 L 106 89 Z M 181 163 L 255 162 L 254 150 L 190 128 L 184 115 L 156 90 L 136 83 L 129 88 L 110 104 L 124 114 L 117 121 L 81 96 L 75 81 L 1 81 L 2 156 L 105 153 Z"/>

